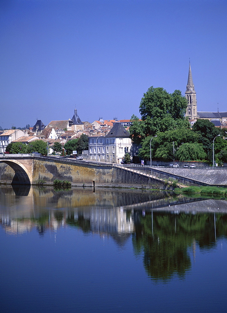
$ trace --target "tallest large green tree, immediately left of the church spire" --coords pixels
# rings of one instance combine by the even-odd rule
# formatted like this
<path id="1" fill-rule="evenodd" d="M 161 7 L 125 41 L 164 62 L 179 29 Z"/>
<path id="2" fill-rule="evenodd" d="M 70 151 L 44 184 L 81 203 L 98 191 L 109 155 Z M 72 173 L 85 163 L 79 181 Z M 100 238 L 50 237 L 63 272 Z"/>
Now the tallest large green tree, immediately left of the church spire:
<path id="1" fill-rule="evenodd" d="M 140 103 L 142 121 L 135 115 L 131 118 L 131 138 L 140 143 L 146 136 L 154 136 L 158 132 L 177 127 L 189 128 L 189 122 L 184 117 L 186 108 L 187 101 L 180 90 L 169 94 L 163 88 L 150 87 Z"/>

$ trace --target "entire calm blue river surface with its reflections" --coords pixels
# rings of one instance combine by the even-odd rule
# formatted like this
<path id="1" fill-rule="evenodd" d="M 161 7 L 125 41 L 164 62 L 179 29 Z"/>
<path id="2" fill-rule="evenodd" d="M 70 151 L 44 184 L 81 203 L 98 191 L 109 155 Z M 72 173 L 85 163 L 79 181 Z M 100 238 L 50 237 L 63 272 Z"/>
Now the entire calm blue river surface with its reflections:
<path id="1" fill-rule="evenodd" d="M 1 312 L 226 312 L 227 202 L 0 187 Z"/>

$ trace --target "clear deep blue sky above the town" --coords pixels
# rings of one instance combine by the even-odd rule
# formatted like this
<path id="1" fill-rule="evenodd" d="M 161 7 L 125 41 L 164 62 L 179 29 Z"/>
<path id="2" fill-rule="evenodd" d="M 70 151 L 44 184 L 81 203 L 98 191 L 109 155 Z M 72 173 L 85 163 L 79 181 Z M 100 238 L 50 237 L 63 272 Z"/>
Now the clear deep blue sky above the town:
<path id="1" fill-rule="evenodd" d="M 139 115 L 151 86 L 227 111 L 226 1 L 3 0 L 0 126 Z M 217 104 L 219 103 L 219 104 Z"/>

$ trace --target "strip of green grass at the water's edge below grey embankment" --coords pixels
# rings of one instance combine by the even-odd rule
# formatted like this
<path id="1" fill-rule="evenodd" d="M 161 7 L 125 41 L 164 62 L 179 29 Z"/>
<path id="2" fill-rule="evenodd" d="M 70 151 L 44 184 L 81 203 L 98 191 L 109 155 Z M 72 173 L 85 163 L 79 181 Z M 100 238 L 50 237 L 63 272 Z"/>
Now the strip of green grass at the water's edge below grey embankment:
<path id="1" fill-rule="evenodd" d="M 227 188 L 209 186 L 190 186 L 186 188 L 176 188 L 177 193 L 198 193 L 201 195 L 218 195 L 227 197 Z"/>

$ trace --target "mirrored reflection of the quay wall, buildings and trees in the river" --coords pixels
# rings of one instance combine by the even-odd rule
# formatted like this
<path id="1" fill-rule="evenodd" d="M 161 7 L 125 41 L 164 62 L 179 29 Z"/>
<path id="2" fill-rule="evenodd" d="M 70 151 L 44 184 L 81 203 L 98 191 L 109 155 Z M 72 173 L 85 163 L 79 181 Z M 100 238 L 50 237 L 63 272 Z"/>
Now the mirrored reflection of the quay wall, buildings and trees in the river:
<path id="1" fill-rule="evenodd" d="M 44 236 L 68 227 L 110 237 L 119 247 L 131 239 L 154 281 L 184 279 L 196 249 L 214 249 L 218 239 L 227 238 L 225 200 L 101 188 L 31 187 L 25 197 L 4 186 L 0 193 L 0 223 L 7 234 L 35 230 Z"/>

